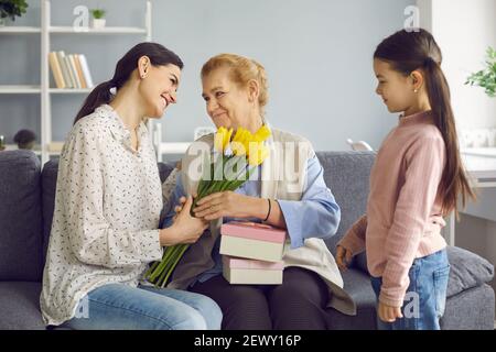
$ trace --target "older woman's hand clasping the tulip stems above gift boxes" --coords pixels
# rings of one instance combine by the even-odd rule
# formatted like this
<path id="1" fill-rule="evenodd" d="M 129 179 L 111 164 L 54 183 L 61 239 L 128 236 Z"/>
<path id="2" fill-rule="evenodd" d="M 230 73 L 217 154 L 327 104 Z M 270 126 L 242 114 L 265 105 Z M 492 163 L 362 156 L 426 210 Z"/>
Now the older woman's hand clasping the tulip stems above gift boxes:
<path id="1" fill-rule="evenodd" d="M 230 218 L 250 218 L 258 217 L 260 212 L 261 198 L 239 195 L 226 190 L 212 194 L 198 200 L 193 212 L 196 218 L 205 220 L 216 220 L 222 217 Z M 267 200 L 265 200 L 267 204 Z"/>

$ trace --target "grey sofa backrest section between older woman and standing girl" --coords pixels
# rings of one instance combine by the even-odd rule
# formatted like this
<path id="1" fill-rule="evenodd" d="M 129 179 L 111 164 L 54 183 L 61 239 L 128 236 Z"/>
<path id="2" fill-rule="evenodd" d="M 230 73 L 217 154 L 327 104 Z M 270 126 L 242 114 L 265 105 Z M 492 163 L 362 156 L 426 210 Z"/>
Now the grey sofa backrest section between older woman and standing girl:
<path id="1" fill-rule="evenodd" d="M 335 255 L 336 243 L 367 209 L 370 169 L 376 153 L 319 152 L 316 155 L 324 169 L 325 183 L 341 208 L 337 233 L 326 240 L 330 251 Z"/>

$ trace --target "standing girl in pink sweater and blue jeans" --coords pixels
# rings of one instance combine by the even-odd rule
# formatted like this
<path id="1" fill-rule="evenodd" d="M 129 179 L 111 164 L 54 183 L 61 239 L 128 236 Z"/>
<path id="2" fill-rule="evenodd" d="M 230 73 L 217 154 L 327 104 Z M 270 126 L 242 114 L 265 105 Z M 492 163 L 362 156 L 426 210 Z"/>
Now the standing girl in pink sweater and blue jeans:
<path id="1" fill-rule="evenodd" d="M 400 31 L 379 44 L 376 92 L 401 112 L 370 174 L 367 215 L 336 249 L 345 270 L 367 251 L 382 329 L 440 329 L 450 264 L 443 217 L 474 197 L 462 166 L 441 50 L 424 31 Z"/>

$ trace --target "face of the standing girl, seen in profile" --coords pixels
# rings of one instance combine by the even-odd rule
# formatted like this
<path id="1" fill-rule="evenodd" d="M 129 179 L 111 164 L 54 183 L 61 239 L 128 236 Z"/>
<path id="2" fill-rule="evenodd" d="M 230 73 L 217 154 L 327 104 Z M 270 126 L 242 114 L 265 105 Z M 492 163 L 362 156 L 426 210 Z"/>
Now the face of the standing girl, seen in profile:
<path id="1" fill-rule="evenodd" d="M 374 59 L 374 72 L 378 79 L 376 92 L 382 98 L 389 112 L 403 112 L 416 101 L 416 85 L 410 76 L 392 69 L 385 61 Z"/>

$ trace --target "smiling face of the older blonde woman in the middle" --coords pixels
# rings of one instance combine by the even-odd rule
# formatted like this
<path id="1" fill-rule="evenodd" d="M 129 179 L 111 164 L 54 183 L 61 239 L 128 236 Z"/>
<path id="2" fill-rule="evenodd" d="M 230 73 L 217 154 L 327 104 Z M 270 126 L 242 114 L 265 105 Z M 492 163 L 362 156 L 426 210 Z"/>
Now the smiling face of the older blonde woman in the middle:
<path id="1" fill-rule="evenodd" d="M 230 79 L 229 68 L 214 69 L 202 78 L 202 85 L 206 111 L 217 129 L 249 129 L 252 98 L 248 87 L 242 88 Z"/>

